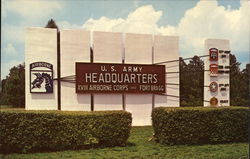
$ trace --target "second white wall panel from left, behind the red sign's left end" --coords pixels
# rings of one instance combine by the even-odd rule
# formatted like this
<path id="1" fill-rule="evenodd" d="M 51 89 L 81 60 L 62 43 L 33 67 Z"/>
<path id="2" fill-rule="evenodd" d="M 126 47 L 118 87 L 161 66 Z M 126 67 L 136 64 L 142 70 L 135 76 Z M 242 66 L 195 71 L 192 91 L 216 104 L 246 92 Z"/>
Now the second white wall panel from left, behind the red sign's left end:
<path id="1" fill-rule="evenodd" d="M 76 62 L 90 62 L 90 32 L 61 31 L 61 110 L 90 110 L 90 94 L 76 94 Z"/>

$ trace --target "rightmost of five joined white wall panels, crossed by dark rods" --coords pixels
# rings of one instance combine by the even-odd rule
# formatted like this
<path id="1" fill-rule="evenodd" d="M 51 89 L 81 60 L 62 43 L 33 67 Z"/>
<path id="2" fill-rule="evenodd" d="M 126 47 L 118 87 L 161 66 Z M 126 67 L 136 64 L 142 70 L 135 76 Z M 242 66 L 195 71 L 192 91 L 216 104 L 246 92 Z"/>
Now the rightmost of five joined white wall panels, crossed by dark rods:
<path id="1" fill-rule="evenodd" d="M 179 59 L 179 38 L 175 36 L 154 36 L 154 63 Z M 179 106 L 179 61 L 162 63 L 165 65 L 166 72 L 166 94 L 173 96 L 155 95 L 155 107 L 159 106 Z M 170 83 L 172 85 L 170 85 Z M 173 85 L 174 84 L 174 85 Z M 176 97 L 174 97 L 176 96 Z"/>

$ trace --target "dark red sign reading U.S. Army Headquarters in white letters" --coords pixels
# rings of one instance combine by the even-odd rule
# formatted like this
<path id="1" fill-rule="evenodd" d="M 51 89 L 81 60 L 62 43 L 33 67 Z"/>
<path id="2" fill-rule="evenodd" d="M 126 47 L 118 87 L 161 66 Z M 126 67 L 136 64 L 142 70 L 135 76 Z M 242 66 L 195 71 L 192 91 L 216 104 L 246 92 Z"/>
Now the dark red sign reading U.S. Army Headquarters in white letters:
<path id="1" fill-rule="evenodd" d="M 76 63 L 76 93 L 165 93 L 165 66 Z"/>

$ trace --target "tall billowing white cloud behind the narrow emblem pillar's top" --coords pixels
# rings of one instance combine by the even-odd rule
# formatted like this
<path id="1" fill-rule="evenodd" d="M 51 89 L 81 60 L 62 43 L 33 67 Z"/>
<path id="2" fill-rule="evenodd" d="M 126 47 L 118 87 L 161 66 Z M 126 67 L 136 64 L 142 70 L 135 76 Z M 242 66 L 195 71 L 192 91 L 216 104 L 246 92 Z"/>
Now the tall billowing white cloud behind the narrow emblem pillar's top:
<path id="1" fill-rule="evenodd" d="M 242 1 L 237 10 L 218 6 L 216 0 L 199 1 L 194 8 L 186 11 L 177 27 L 181 51 L 193 50 L 202 54 L 206 38 L 219 38 L 229 39 L 233 52 L 247 52 L 249 13 L 247 1 Z"/>

